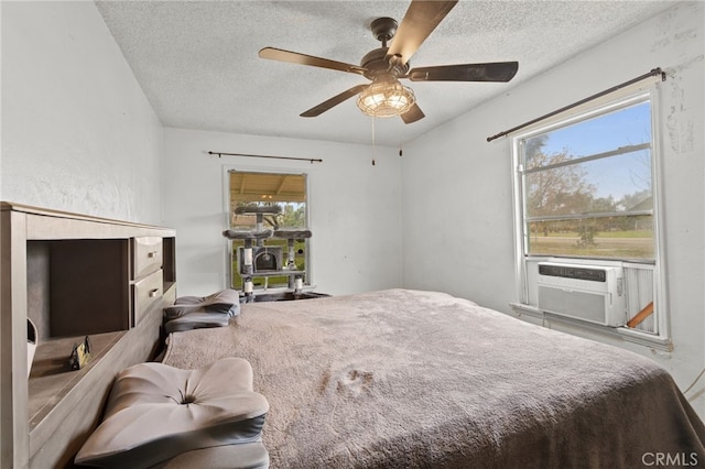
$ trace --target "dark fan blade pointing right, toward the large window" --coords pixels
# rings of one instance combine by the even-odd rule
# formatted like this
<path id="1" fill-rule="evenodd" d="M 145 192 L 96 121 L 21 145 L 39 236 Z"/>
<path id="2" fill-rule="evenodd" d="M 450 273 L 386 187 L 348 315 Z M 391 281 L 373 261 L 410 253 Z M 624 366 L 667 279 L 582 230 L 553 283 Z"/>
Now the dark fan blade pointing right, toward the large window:
<path id="1" fill-rule="evenodd" d="M 412 68 L 406 77 L 412 81 L 509 81 L 517 75 L 518 62 L 490 64 L 441 65 Z"/>

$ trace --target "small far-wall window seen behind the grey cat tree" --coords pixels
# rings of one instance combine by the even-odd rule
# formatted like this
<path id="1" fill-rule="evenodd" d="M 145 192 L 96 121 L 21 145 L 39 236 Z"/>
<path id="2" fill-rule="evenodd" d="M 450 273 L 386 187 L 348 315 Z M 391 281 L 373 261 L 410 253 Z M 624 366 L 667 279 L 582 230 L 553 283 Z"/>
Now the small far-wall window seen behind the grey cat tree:
<path id="1" fill-rule="evenodd" d="M 304 229 L 308 226 L 306 207 L 306 175 L 288 173 L 254 173 L 229 171 L 229 228 L 236 231 L 258 230 L 258 216 L 238 214 L 238 207 L 273 207 L 279 206 L 275 214 L 264 214 L 260 217 L 261 230 Z M 246 210 L 245 210 L 246 211 Z M 258 241 L 263 247 L 274 248 L 281 253 L 281 262 L 286 262 L 290 253 L 286 239 L 268 238 Z M 242 288 L 242 277 L 238 269 L 238 251 L 245 246 L 243 240 L 232 240 L 230 243 L 230 285 Z M 259 244 L 258 244 L 259 246 Z M 293 246 L 296 270 L 305 272 L 308 253 L 308 240 L 296 240 Z M 279 266 L 276 266 L 279 270 Z M 286 275 L 254 275 L 254 288 L 286 287 Z M 304 283 L 307 283 L 307 279 Z"/>

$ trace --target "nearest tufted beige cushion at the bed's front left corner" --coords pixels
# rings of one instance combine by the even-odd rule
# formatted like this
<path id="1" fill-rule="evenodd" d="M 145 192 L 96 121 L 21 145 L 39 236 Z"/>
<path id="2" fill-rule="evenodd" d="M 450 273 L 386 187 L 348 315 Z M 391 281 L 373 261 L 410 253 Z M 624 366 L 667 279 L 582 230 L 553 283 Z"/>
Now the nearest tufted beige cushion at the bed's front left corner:
<path id="1" fill-rule="evenodd" d="M 121 371 L 101 424 L 76 455 L 104 468 L 268 467 L 261 432 L 269 404 L 240 358 L 198 370 L 140 363 Z M 220 461 L 220 462 L 218 462 Z M 203 462 L 203 463 L 200 463 Z"/>

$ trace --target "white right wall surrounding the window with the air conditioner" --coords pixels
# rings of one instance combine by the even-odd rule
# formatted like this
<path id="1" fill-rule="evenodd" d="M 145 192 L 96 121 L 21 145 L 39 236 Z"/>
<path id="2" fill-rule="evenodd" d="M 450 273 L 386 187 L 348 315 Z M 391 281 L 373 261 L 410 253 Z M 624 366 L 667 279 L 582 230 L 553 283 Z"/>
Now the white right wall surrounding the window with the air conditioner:
<path id="1" fill-rule="evenodd" d="M 682 389 L 690 385 L 705 367 L 704 7 L 675 4 L 408 144 L 402 163 L 404 286 L 446 290 L 511 313 L 509 302 L 517 301 L 511 150 L 509 139 L 488 143 L 486 138 L 662 67 L 669 74 L 661 85 L 659 118 L 674 350 L 611 343 L 654 357 Z M 437 233 L 429 233 L 429 227 Z M 431 243 L 441 254 L 429 249 Z M 687 394 L 701 416 L 704 385 L 701 380 Z"/>

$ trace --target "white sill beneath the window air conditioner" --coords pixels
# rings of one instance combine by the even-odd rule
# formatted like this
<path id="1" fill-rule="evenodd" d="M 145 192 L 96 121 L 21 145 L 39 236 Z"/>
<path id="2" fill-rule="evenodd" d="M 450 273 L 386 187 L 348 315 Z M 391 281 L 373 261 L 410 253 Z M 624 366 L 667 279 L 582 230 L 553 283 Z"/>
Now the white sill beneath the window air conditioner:
<path id="1" fill-rule="evenodd" d="M 607 327 L 598 324 L 586 323 L 579 319 L 573 319 L 551 313 L 544 313 L 535 306 L 524 305 L 521 303 L 510 303 L 509 306 L 518 316 L 527 315 L 543 320 L 551 320 L 554 323 L 562 323 L 573 327 L 578 327 L 588 332 L 595 332 L 603 336 L 608 336 L 612 339 L 620 339 L 628 342 L 637 343 L 643 347 L 652 349 L 659 349 L 664 351 L 672 351 L 673 345 L 671 340 L 665 337 L 653 336 L 650 334 L 640 332 L 628 327 Z M 544 326 L 545 327 L 545 326 Z"/>

